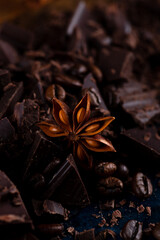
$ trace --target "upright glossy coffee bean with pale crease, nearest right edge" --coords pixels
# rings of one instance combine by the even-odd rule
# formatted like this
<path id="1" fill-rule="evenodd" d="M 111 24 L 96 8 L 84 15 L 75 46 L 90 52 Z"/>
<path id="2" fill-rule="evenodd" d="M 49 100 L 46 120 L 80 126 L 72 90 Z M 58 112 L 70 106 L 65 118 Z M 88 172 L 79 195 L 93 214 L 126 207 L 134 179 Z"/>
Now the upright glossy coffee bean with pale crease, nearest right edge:
<path id="1" fill-rule="evenodd" d="M 132 189 L 139 198 L 146 198 L 152 195 L 153 187 L 151 181 L 143 173 L 137 173 L 133 177 Z"/>

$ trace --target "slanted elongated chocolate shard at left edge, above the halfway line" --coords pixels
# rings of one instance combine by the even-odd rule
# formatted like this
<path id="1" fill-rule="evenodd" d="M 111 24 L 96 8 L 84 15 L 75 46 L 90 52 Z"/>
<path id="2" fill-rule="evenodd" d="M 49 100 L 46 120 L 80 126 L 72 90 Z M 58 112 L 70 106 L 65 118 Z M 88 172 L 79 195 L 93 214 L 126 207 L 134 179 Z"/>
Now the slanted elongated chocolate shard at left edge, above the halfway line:
<path id="1" fill-rule="evenodd" d="M 23 82 L 8 84 L 5 87 L 3 96 L 0 99 L 0 119 L 5 114 L 11 114 L 14 109 L 14 105 L 20 100 L 23 93 Z"/>

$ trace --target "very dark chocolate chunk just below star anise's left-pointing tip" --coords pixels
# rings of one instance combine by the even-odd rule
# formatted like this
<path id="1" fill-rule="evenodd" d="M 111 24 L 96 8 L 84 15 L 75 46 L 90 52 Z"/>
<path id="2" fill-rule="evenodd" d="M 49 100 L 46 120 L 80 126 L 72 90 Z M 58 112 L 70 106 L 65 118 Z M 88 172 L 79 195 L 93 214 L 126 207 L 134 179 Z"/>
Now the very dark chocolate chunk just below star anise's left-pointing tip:
<path id="1" fill-rule="evenodd" d="M 24 178 L 29 178 L 35 171 L 43 171 L 46 164 L 51 162 L 55 155 L 59 155 L 58 146 L 47 140 L 43 134 L 36 133 L 26 161 Z"/>

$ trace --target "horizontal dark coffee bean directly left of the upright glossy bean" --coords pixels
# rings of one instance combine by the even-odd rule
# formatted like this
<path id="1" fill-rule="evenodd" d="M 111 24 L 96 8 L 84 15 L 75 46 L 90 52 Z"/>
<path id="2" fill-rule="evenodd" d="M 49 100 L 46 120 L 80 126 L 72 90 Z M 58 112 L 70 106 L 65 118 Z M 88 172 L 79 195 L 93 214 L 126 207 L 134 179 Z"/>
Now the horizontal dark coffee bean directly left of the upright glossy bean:
<path id="1" fill-rule="evenodd" d="M 99 193 L 103 196 L 113 196 L 122 192 L 123 182 L 115 177 L 101 179 L 97 184 Z"/>

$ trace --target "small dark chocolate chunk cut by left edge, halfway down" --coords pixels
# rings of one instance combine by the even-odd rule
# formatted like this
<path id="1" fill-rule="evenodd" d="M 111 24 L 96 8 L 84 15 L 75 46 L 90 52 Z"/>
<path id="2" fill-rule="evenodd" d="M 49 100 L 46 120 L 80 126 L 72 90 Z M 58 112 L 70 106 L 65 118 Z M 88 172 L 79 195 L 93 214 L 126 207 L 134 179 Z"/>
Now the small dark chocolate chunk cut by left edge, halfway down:
<path id="1" fill-rule="evenodd" d="M 0 120 L 0 144 L 8 143 L 15 136 L 15 130 L 8 118 Z"/>

